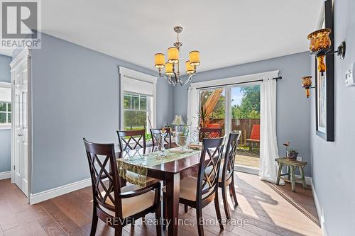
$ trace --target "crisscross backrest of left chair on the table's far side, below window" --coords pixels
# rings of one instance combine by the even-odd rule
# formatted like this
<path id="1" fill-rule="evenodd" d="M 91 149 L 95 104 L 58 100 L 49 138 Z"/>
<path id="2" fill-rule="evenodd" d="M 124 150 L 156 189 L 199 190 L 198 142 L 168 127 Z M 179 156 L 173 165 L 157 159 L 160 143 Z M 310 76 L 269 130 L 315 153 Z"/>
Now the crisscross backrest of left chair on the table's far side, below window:
<path id="1" fill-rule="evenodd" d="M 120 130 L 117 131 L 117 135 L 121 152 L 146 148 L 146 130 Z M 143 141 L 143 145 L 141 141 Z"/>

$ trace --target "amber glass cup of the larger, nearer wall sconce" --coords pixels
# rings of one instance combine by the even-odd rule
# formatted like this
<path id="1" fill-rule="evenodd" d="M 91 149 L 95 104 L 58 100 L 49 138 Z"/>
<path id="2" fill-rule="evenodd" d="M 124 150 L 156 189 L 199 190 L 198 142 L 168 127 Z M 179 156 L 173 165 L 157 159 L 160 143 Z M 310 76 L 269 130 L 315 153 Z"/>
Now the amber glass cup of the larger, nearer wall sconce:
<path id="1" fill-rule="evenodd" d="M 321 30 L 317 30 L 313 33 L 310 33 L 307 38 L 310 40 L 310 52 L 321 52 L 322 50 L 328 50 L 332 45 L 329 33 L 332 30 L 329 28 L 323 28 Z"/>

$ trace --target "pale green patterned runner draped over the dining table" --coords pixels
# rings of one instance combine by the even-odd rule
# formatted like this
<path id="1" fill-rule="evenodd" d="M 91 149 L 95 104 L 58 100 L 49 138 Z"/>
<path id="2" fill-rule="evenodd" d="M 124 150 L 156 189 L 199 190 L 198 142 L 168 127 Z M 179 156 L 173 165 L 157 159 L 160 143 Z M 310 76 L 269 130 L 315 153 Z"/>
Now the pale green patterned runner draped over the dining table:
<path id="1" fill-rule="evenodd" d="M 173 152 L 171 150 L 178 150 L 181 147 L 175 147 L 165 150 L 166 156 L 160 157 L 160 151 L 151 152 L 148 154 L 141 154 L 138 150 L 135 153 L 125 152 L 123 158 L 116 159 L 117 167 L 119 169 L 119 176 L 131 184 L 139 187 L 146 186 L 147 172 L 149 167 L 167 162 L 173 162 L 177 159 L 190 157 L 193 154 L 200 153 L 201 150 L 192 150 L 192 152 Z M 133 172 L 133 173 L 129 173 Z"/>

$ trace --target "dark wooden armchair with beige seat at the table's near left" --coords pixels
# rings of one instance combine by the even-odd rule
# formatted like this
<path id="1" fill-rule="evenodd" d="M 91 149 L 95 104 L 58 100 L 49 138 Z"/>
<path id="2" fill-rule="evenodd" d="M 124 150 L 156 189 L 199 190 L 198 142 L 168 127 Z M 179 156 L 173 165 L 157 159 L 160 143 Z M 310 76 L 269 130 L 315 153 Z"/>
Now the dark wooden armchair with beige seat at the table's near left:
<path id="1" fill-rule="evenodd" d="M 114 235 L 122 235 L 125 225 L 148 213 L 155 213 L 156 234 L 160 230 L 160 183 L 139 189 L 121 187 L 114 154 L 114 144 L 97 144 L 84 139 L 92 180 L 93 213 L 90 235 L 95 235 L 98 220 L 114 227 Z M 110 170 L 108 170 L 110 167 Z"/>

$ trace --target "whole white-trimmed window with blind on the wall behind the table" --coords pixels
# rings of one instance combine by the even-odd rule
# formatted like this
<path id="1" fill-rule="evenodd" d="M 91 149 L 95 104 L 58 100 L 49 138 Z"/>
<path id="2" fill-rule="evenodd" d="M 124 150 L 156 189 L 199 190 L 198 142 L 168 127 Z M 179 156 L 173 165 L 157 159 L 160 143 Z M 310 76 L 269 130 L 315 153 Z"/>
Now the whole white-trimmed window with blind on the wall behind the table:
<path id="1" fill-rule="evenodd" d="M 119 67 L 121 78 L 121 130 L 155 128 L 156 78 Z"/>

